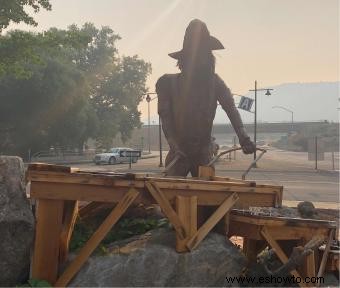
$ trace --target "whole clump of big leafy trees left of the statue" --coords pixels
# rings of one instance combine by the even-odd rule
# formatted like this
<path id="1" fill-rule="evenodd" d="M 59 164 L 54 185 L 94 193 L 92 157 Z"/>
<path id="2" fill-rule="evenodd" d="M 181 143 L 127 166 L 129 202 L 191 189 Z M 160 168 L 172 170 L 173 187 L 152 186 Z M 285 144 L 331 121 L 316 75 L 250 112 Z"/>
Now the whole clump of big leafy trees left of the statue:
<path id="1" fill-rule="evenodd" d="M 1 61 L 14 63 L 0 73 L 0 153 L 82 148 L 89 137 L 108 147 L 118 132 L 126 140 L 140 125 L 137 106 L 151 65 L 119 58 L 118 39 L 89 23 L 0 37 L 0 69 Z M 11 60 L 11 51 L 27 57 Z"/>

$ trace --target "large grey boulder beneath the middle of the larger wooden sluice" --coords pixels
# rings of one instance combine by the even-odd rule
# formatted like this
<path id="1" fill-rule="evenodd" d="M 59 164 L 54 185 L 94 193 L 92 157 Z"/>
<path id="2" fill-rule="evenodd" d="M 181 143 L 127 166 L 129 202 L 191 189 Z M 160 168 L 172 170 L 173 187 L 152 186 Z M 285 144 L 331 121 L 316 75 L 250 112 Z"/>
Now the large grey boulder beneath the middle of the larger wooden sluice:
<path id="1" fill-rule="evenodd" d="M 92 256 L 70 286 L 223 286 L 246 264 L 222 235 L 210 235 L 191 253 L 175 251 L 175 233 L 159 229 L 116 243 L 105 256 Z"/>

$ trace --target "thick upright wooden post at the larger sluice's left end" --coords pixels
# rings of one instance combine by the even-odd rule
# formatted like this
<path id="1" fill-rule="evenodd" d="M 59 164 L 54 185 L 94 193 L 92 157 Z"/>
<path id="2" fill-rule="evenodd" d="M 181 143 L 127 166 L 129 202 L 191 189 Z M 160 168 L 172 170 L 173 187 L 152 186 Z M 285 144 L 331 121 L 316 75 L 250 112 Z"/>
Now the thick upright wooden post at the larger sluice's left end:
<path id="1" fill-rule="evenodd" d="M 39 200 L 32 262 L 32 278 L 54 283 L 58 275 L 64 202 Z"/>

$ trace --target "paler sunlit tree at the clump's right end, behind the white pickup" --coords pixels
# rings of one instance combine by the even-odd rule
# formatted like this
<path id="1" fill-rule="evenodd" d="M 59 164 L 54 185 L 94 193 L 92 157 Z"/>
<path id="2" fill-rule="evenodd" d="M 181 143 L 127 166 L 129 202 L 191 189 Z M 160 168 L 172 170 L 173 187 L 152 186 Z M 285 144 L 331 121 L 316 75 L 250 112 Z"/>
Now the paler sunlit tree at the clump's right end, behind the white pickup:
<path id="1" fill-rule="evenodd" d="M 151 65 L 137 56 L 123 57 L 116 69 L 102 81 L 92 98 L 99 119 L 97 138 L 108 148 L 113 137 L 120 132 L 123 142 L 135 127 L 140 127 L 140 112 L 137 110 Z"/>

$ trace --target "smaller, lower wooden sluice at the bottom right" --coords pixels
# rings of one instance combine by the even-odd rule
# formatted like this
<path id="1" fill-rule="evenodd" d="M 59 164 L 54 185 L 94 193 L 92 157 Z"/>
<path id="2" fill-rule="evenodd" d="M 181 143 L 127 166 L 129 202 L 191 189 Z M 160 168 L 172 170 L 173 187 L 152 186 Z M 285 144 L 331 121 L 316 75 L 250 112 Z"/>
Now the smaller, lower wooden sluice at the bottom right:
<path id="1" fill-rule="evenodd" d="M 315 239 L 320 242 L 303 259 L 299 269 L 290 272 L 294 277 L 322 277 L 328 260 L 330 246 L 335 239 L 336 221 L 320 219 L 303 219 L 284 216 L 270 216 L 253 213 L 249 210 L 233 209 L 230 214 L 228 236 L 243 237 L 243 251 L 249 261 L 256 261 L 257 255 L 267 246 L 275 250 L 275 254 L 283 263 L 289 265 L 294 247 L 307 245 Z M 319 247 L 326 242 L 323 253 Z M 288 256 L 287 256 L 288 255 Z M 300 286 L 315 286 L 299 283 Z"/>

